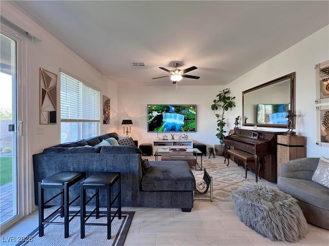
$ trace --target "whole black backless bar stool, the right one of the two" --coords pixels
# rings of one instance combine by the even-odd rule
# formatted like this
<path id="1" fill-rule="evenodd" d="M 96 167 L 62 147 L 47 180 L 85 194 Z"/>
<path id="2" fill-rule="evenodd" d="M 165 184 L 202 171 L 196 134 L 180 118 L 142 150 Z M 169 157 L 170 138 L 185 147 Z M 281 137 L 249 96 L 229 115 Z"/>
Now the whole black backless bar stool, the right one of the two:
<path id="1" fill-rule="evenodd" d="M 115 198 L 111 198 L 111 189 L 114 184 L 118 182 L 119 191 Z M 86 189 L 96 189 L 96 193 L 86 201 Z M 87 223 L 87 220 L 96 211 L 96 219 L 99 216 L 99 208 L 104 206 L 99 206 L 99 190 L 106 189 L 106 209 L 107 209 L 107 223 Z M 121 174 L 115 172 L 97 172 L 95 174 L 87 177 L 80 185 L 81 190 L 81 215 L 80 215 L 80 225 L 81 233 L 80 237 L 85 237 L 85 226 L 107 226 L 107 239 L 111 239 L 111 223 L 115 216 L 118 214 L 118 218 L 121 219 Z M 86 204 L 90 202 L 93 198 L 96 199 L 96 208 L 90 212 L 86 217 Z M 111 218 L 111 207 L 113 203 L 118 200 L 118 209 Z"/>

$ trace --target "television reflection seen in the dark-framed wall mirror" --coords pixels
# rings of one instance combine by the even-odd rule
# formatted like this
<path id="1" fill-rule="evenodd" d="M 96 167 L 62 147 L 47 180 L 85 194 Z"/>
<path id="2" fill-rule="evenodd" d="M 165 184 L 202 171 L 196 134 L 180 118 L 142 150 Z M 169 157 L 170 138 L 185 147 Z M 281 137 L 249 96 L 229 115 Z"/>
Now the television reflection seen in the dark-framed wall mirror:
<path id="1" fill-rule="evenodd" d="M 287 111 L 290 104 L 258 104 L 257 123 L 258 124 L 287 124 Z"/>

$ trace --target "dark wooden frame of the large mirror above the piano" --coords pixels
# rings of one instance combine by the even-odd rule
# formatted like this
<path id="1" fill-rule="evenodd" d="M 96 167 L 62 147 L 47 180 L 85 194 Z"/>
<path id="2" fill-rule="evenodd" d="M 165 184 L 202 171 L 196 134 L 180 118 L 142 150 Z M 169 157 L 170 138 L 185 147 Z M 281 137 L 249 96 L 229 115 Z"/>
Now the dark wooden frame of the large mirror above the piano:
<path id="1" fill-rule="evenodd" d="M 255 91 L 255 90 L 258 90 L 258 89 L 261 89 L 261 88 L 264 88 L 264 87 L 267 87 L 267 86 L 271 86 L 271 85 L 274 85 L 276 83 L 279 83 L 283 80 L 286 80 L 286 79 L 290 79 L 290 110 L 296 114 L 296 111 L 295 111 L 295 78 L 296 78 L 296 72 L 293 72 L 293 73 L 289 73 L 287 75 L 284 75 L 282 77 L 279 77 L 279 78 L 276 78 L 276 79 L 273 79 L 271 81 L 268 81 L 262 85 L 259 85 L 259 86 L 256 86 L 256 87 L 253 87 L 251 89 L 248 89 L 246 91 L 243 91 L 242 92 L 242 126 L 258 126 L 258 127 L 273 127 L 273 128 L 287 128 L 287 125 L 281 125 L 281 124 L 258 124 L 258 123 L 245 123 L 244 122 L 244 118 L 245 118 L 245 114 L 244 114 L 244 108 L 245 108 L 245 101 L 244 101 L 244 97 L 245 97 L 245 94 L 248 93 L 248 92 L 252 92 L 252 91 Z M 293 129 L 295 129 L 295 118 L 293 118 Z"/>

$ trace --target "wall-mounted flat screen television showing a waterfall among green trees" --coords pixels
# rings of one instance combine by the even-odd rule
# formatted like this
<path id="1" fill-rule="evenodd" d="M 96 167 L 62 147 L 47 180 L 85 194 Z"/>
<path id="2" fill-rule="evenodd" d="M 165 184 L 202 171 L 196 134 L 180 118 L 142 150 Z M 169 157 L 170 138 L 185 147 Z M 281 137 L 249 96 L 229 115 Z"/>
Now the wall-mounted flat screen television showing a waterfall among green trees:
<path id="1" fill-rule="evenodd" d="M 196 105 L 148 104 L 148 132 L 196 132 Z"/>

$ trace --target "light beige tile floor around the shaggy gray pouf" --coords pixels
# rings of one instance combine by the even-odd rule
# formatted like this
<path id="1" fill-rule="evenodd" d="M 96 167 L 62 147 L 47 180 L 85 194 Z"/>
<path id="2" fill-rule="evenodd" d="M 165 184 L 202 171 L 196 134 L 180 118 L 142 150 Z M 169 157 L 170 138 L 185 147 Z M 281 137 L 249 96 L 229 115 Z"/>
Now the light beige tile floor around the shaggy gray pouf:
<path id="1" fill-rule="evenodd" d="M 230 163 L 230 167 L 244 175 L 244 169 L 237 167 L 234 162 Z M 254 178 L 254 174 L 248 172 L 248 179 L 254 181 Z M 275 183 L 263 179 L 259 180 L 259 183 L 267 183 L 276 187 Z M 123 211 L 136 211 L 124 243 L 125 246 L 329 245 L 329 231 L 310 224 L 306 238 L 296 243 L 273 242 L 245 226 L 235 215 L 232 202 L 196 200 L 191 213 L 181 212 L 180 209 L 164 208 L 129 207 L 123 208 Z M 15 245 L 16 242 L 8 242 L 6 239 L 10 236 L 17 238 L 28 235 L 36 227 L 38 227 L 38 211 L 16 223 L 6 232 L 1 232 L 0 244 L 4 246 Z"/>

